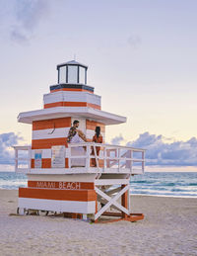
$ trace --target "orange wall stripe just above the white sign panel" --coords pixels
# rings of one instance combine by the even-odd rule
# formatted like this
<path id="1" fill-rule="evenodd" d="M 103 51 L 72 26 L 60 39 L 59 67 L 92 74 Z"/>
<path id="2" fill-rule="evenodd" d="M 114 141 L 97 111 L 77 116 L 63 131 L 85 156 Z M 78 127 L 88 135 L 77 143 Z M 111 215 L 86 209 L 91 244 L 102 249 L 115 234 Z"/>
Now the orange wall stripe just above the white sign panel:
<path id="1" fill-rule="evenodd" d="M 66 139 L 65 137 L 33 139 L 32 149 L 51 148 L 53 145 L 65 145 L 67 147 Z"/>

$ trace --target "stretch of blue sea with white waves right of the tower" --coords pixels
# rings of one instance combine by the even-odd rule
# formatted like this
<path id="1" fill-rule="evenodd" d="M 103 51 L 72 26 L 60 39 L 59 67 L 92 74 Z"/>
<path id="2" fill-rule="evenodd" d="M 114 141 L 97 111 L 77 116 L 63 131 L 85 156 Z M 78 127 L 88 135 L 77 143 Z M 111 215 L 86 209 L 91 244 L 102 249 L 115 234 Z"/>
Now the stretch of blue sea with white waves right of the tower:
<path id="1" fill-rule="evenodd" d="M 147 172 L 130 181 L 133 195 L 197 198 L 197 172 Z"/>

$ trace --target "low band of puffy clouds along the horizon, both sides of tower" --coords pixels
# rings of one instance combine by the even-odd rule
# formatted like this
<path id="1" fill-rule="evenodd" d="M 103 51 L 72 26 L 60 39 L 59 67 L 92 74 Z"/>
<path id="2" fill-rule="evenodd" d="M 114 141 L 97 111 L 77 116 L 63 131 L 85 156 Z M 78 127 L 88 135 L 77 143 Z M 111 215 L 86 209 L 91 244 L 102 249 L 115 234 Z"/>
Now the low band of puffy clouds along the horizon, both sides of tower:
<path id="1" fill-rule="evenodd" d="M 24 140 L 14 132 L 0 134 L 0 164 L 14 164 L 14 150 L 12 145 L 17 145 Z M 124 137 L 120 134 L 111 140 L 112 144 L 120 144 Z M 160 166 L 197 166 L 197 138 L 192 137 L 187 141 L 165 142 L 163 135 L 144 132 L 136 140 L 129 141 L 127 146 L 145 148 L 146 165 Z"/>

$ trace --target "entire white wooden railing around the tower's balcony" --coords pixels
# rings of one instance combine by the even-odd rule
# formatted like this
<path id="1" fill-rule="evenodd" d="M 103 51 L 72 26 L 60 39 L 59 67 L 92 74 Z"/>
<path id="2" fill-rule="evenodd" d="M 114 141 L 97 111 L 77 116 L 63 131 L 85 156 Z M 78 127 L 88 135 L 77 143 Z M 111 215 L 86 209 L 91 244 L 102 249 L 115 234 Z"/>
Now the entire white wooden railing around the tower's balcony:
<path id="1" fill-rule="evenodd" d="M 13 146 L 15 149 L 15 170 L 17 172 L 32 171 L 31 162 L 33 150 L 31 146 Z M 97 148 L 99 147 L 99 155 Z M 44 149 L 43 149 L 44 150 Z M 19 152 L 26 151 L 26 157 L 20 157 Z M 145 149 L 128 146 L 99 144 L 95 142 L 69 143 L 64 148 L 64 158 L 68 158 L 70 172 L 103 172 L 103 173 L 135 173 L 141 174 L 145 170 Z M 51 160 L 52 161 L 52 160 Z M 26 163 L 26 167 L 24 167 Z M 52 166 L 52 164 L 51 164 Z M 43 170 L 43 168 L 40 168 Z M 39 169 L 39 170 L 40 170 Z M 52 171 L 55 168 L 48 168 Z M 34 169 L 37 170 L 37 169 Z M 66 173 L 65 172 L 65 173 Z"/>

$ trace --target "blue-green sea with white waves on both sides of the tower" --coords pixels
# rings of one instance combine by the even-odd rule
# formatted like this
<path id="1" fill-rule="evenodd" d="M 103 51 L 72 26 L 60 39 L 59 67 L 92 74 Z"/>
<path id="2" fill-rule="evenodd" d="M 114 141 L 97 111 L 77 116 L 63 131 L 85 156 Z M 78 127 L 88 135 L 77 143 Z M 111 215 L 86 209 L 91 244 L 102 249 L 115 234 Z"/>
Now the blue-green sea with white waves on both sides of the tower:
<path id="1" fill-rule="evenodd" d="M 27 176 L 0 172 L 0 189 L 27 187 Z M 132 195 L 197 198 L 197 172 L 146 172 L 130 180 Z"/>

